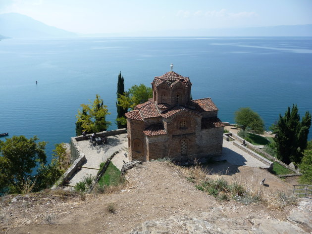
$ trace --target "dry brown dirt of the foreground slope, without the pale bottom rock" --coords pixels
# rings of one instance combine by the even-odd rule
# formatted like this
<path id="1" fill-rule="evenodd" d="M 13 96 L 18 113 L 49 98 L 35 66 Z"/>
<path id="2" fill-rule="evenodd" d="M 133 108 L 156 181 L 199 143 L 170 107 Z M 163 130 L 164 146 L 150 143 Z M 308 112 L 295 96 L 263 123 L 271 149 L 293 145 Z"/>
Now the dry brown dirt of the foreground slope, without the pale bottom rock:
<path id="1" fill-rule="evenodd" d="M 291 191 L 291 186 L 259 168 L 239 167 L 237 173 L 222 175 L 262 189 Z M 14 196 L 0 202 L 0 233 L 5 234 L 126 234 L 144 221 L 166 218 L 185 211 L 210 212 L 222 206 L 222 216 L 275 217 L 285 220 L 291 207 L 283 211 L 263 205 L 244 205 L 235 201 L 218 201 L 186 180 L 183 169 L 166 162 L 149 162 L 129 170 L 128 184 L 112 194 Z M 108 209 L 110 206 L 110 212 Z M 213 213 L 211 212 L 212 218 Z M 248 223 L 248 222 L 247 222 Z"/>

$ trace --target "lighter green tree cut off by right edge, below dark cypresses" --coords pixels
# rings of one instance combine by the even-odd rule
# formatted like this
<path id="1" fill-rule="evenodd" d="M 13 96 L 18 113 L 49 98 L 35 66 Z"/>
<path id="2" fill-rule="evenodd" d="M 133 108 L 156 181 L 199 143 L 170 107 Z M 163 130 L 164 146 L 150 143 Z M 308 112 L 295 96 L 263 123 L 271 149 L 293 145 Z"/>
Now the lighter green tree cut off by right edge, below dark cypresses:
<path id="1" fill-rule="evenodd" d="M 299 168 L 302 173 L 299 181 L 302 184 L 312 185 L 312 148 L 304 151 Z"/>

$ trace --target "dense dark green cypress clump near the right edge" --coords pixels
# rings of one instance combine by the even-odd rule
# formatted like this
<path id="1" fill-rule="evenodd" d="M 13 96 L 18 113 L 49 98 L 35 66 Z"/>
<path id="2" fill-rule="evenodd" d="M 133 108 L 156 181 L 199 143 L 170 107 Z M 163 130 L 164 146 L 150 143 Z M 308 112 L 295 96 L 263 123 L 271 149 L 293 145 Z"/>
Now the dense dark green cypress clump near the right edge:
<path id="1" fill-rule="evenodd" d="M 279 115 L 277 124 L 272 130 L 275 134 L 277 158 L 286 164 L 299 163 L 303 151 L 307 148 L 307 139 L 311 126 L 311 114 L 306 112 L 300 122 L 297 105 L 288 107 L 284 116 Z"/>

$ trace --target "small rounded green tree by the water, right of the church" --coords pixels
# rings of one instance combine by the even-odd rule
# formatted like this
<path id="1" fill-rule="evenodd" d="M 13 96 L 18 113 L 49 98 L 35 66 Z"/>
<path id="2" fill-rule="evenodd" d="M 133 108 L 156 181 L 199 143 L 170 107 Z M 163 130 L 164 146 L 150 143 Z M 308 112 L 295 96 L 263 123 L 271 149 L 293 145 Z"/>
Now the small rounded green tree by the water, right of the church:
<path id="1" fill-rule="evenodd" d="M 264 123 L 260 115 L 253 111 L 250 107 L 241 107 L 234 113 L 235 122 L 246 128 L 251 129 L 254 133 L 263 133 Z"/>

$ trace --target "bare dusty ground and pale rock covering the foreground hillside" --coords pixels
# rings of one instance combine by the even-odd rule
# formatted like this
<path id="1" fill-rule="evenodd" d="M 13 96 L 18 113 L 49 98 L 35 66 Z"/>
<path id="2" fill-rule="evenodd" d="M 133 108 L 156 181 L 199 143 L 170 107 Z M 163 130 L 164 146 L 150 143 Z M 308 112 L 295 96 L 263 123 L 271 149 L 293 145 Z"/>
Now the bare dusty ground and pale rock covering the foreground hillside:
<path id="1" fill-rule="evenodd" d="M 262 174 L 264 173 L 264 174 Z M 265 170 L 239 167 L 229 180 L 267 178 L 261 189 L 290 191 Z M 272 178 L 271 178 L 271 177 Z M 312 232 L 311 200 L 274 210 L 262 204 L 219 201 L 188 182 L 185 169 L 149 162 L 126 173 L 128 183 L 110 194 L 63 191 L 6 196 L 0 202 L 0 233 L 7 234 L 229 234 Z M 257 185 L 255 180 L 255 187 Z M 280 182 L 280 184 L 279 184 Z M 270 185 L 270 183 L 274 184 Z"/>

